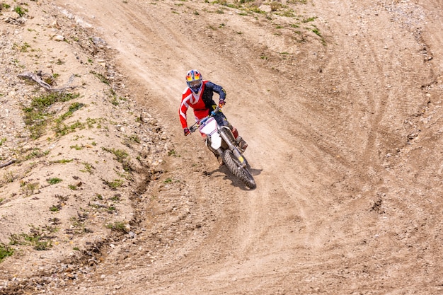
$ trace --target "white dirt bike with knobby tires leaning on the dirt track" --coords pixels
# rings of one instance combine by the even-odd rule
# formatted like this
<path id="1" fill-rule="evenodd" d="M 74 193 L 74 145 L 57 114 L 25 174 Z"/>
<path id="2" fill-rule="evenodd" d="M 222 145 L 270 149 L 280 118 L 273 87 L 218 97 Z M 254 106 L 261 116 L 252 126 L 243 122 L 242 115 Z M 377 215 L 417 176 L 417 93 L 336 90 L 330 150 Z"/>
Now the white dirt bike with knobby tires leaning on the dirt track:
<path id="1" fill-rule="evenodd" d="M 190 132 L 200 129 L 200 132 L 206 134 L 205 144 L 209 151 L 212 151 L 217 158 L 221 158 L 223 163 L 228 167 L 232 174 L 239 178 L 243 183 L 254 189 L 257 187 L 251 172 L 248 161 L 243 156 L 243 150 L 238 146 L 234 134 L 227 126 L 220 126 L 215 120 L 215 116 L 220 112 L 217 107 L 209 116 L 195 122 L 190 127 Z"/>

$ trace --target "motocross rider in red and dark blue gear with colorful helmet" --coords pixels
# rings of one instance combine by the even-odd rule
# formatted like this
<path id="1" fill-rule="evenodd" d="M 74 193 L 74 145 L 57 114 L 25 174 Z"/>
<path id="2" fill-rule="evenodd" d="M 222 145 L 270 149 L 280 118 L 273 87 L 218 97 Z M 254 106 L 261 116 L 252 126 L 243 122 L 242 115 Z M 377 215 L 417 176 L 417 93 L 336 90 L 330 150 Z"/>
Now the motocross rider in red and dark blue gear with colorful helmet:
<path id="1" fill-rule="evenodd" d="M 186 120 L 186 112 L 188 111 L 188 108 L 191 107 L 194 110 L 195 120 L 201 120 L 204 117 L 207 117 L 212 110 L 217 108 L 217 103 L 215 103 L 212 98 L 214 92 L 219 94 L 219 108 L 222 108 L 226 103 L 224 101 L 226 99 L 226 91 L 224 91 L 222 86 L 214 84 L 211 81 L 203 80 L 202 74 L 196 69 L 188 71 L 188 74 L 186 74 L 186 83 L 188 84 L 188 87 L 183 91 L 178 115 L 180 115 L 183 132 L 185 136 L 188 136 L 191 133 L 188 129 L 188 122 Z M 238 135 L 237 129 L 228 122 L 226 116 L 222 112 L 217 112 L 217 115 L 214 117 L 220 126 L 228 126 L 229 129 L 231 129 L 232 134 L 234 134 L 234 137 L 238 142 L 238 146 L 244 151 L 246 147 L 248 147 L 248 144 L 246 144 L 246 141 Z M 202 134 L 202 136 L 205 138 L 206 134 Z M 217 156 L 217 154 L 215 155 Z"/>

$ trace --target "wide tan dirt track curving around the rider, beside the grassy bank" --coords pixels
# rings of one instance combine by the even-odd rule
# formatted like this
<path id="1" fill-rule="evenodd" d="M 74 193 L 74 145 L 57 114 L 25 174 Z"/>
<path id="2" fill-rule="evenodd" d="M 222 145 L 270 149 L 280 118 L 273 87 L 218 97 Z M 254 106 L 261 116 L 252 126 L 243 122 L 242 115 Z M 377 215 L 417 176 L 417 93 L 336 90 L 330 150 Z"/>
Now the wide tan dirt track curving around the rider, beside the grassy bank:
<path id="1" fill-rule="evenodd" d="M 137 205 L 137 239 L 50 291 L 442 294 L 441 1 L 309 1 L 291 4 L 293 18 L 74 2 L 54 1 L 117 50 L 174 156 Z M 257 189 L 183 137 L 192 68 L 226 89 Z"/>

